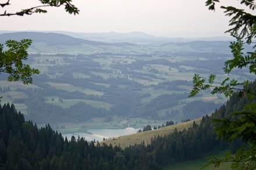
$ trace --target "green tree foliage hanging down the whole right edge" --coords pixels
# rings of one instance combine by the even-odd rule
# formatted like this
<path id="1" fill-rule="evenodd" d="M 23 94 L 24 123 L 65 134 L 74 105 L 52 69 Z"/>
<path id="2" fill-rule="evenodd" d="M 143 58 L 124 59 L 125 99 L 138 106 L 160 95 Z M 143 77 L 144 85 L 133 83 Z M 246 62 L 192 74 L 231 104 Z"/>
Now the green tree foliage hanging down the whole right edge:
<path id="1" fill-rule="evenodd" d="M 209 10 L 215 10 L 215 3 L 218 0 L 208 0 L 206 5 Z M 248 68 L 249 74 L 256 74 L 256 45 L 252 46 L 251 51 L 244 54 L 244 45 L 255 44 L 256 38 L 256 16 L 251 14 L 251 11 L 256 9 L 254 0 L 241 0 L 243 5 L 248 10 L 239 9 L 234 6 L 221 6 L 225 9 L 226 16 L 231 17 L 229 20 L 229 32 L 236 41 L 230 42 L 230 49 L 233 59 L 227 60 L 224 64 L 223 71 L 230 73 L 234 69 Z M 250 11 L 250 12 L 247 12 Z M 195 74 L 193 77 L 193 89 L 190 92 L 190 97 L 195 96 L 198 92 L 205 89 L 212 89 L 212 94 L 224 93 L 226 97 L 233 95 L 235 91 L 239 91 L 239 96 L 246 96 L 249 104 L 244 106 L 242 111 L 232 113 L 232 117 L 224 117 L 216 119 L 213 122 L 217 124 L 215 133 L 218 138 L 234 140 L 240 138 L 244 142 L 234 156 L 227 154 L 224 158 L 214 157 L 208 164 L 215 164 L 219 167 L 223 162 L 232 162 L 233 169 L 255 169 L 256 168 L 256 103 L 253 102 L 256 93 L 255 89 L 248 86 L 248 80 L 239 82 L 237 79 L 226 78 L 220 85 L 215 84 L 215 74 L 209 75 L 208 82 L 205 78 Z"/>

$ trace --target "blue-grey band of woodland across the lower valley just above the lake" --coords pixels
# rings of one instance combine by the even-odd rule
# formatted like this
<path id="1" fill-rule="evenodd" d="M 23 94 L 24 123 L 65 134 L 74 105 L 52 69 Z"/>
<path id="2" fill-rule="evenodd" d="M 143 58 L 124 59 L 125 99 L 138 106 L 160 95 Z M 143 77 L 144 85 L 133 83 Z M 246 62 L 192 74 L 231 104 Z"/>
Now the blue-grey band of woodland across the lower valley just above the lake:
<path id="1" fill-rule="evenodd" d="M 37 83 L 36 83 L 37 84 Z M 15 103 L 24 103 L 28 107 L 27 119 L 34 120 L 38 124 L 45 124 L 47 122 L 70 122 L 70 121 L 87 121 L 92 117 L 106 117 L 106 115 L 125 115 L 129 117 L 149 117 L 155 119 L 177 117 L 179 111 L 170 111 L 163 117 L 158 116 L 158 110 L 162 108 L 169 108 L 179 104 L 179 101 L 187 98 L 187 93 L 173 93 L 172 95 L 160 95 L 156 99 L 147 104 L 141 103 L 140 99 L 150 96 L 149 94 L 130 92 L 129 89 L 121 89 L 118 87 L 108 88 L 109 92 L 105 95 L 86 95 L 83 92 L 75 91 L 68 92 L 61 89 L 56 89 L 48 84 L 38 84 L 39 88 L 17 89 L 29 96 L 28 99 L 15 99 Z M 44 97 L 58 96 L 60 101 L 69 99 L 84 99 L 106 102 L 112 105 L 110 109 L 96 108 L 89 104 L 78 102 L 68 108 L 63 108 L 55 104 L 46 103 Z M 186 103 L 183 109 L 184 118 L 197 118 L 201 115 L 213 111 L 219 104 L 213 102 L 195 102 L 197 110 L 193 110 L 194 105 Z M 207 106 L 207 107 L 205 107 Z M 38 110 L 40 108 L 40 110 Z"/>

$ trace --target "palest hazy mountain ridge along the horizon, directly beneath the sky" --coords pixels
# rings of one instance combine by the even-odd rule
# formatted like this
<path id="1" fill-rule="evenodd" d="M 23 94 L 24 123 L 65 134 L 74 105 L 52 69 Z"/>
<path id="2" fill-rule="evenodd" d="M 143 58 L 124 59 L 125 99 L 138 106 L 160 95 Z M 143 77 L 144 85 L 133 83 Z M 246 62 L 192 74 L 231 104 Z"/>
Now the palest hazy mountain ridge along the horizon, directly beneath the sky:
<path id="1" fill-rule="evenodd" d="M 0 34 L 10 32 L 24 32 L 24 31 L 0 31 Z M 44 32 L 65 34 L 70 37 L 86 39 L 88 41 L 106 42 L 106 43 L 120 43 L 128 42 L 131 44 L 143 45 L 163 45 L 170 42 L 191 42 L 191 41 L 233 41 L 230 37 L 208 37 L 208 38 L 179 38 L 179 37 L 156 37 L 154 35 L 146 34 L 140 31 L 133 32 L 70 32 L 70 31 L 26 31 L 26 32 Z"/>

